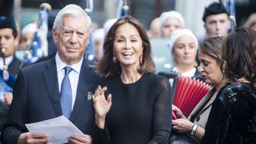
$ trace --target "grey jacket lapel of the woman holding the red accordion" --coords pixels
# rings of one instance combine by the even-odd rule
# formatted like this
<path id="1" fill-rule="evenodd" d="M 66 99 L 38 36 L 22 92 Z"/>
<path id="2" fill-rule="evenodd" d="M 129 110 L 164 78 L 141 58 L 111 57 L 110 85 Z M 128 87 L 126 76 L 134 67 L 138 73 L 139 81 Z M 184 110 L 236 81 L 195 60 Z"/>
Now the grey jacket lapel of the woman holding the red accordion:
<path id="1" fill-rule="evenodd" d="M 198 102 L 198 104 L 196 105 L 196 107 L 193 109 L 193 111 L 191 112 L 191 114 L 188 116 L 188 119 L 191 120 L 191 116 L 192 115 L 198 115 L 199 111 L 201 111 L 203 109 L 203 107 L 205 106 L 205 104 L 211 99 L 213 93 L 215 92 L 215 87 L 212 87 L 212 89 L 203 97 L 203 99 L 201 101 Z"/>

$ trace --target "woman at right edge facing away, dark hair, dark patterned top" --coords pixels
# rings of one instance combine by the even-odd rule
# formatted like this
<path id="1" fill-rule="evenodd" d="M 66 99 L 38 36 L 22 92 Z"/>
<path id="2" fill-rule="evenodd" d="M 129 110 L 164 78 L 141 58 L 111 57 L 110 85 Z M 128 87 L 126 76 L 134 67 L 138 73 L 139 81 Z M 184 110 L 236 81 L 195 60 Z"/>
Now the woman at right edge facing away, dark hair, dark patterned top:
<path id="1" fill-rule="evenodd" d="M 242 27 L 222 45 L 229 85 L 215 99 L 202 143 L 256 143 L 256 31 Z"/>

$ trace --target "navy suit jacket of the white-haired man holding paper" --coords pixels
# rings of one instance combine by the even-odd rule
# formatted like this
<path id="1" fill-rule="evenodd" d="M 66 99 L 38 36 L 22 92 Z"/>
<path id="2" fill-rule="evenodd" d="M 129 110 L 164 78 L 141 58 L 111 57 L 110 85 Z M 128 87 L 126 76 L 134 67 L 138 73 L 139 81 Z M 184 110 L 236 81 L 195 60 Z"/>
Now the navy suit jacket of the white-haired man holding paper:
<path id="1" fill-rule="evenodd" d="M 91 134 L 95 123 L 93 101 L 86 100 L 86 93 L 95 91 L 100 78 L 84 59 L 79 75 L 75 105 L 70 121 L 84 134 Z M 55 58 L 22 68 L 14 85 L 2 143 L 17 143 L 21 133 L 28 132 L 25 124 L 44 121 L 62 115 L 58 75 Z"/>

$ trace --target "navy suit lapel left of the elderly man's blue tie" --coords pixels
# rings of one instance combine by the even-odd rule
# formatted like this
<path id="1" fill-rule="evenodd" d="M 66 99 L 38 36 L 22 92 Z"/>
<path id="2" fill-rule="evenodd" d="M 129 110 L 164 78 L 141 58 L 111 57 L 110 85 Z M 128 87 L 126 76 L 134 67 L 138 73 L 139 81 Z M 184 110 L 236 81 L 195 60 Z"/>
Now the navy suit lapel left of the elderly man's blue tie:
<path id="1" fill-rule="evenodd" d="M 55 58 L 50 60 L 45 66 L 45 69 L 43 70 L 43 78 L 55 114 L 57 117 L 61 116 L 62 110 L 60 105 L 59 83 Z"/>

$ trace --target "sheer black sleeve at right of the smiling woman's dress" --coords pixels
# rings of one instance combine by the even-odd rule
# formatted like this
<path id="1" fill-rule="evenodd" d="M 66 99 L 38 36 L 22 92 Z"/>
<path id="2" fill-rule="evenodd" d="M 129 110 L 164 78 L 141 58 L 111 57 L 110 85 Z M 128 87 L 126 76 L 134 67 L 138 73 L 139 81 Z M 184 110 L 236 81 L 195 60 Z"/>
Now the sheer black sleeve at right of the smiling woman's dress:
<path id="1" fill-rule="evenodd" d="M 153 139 L 149 143 L 168 143 L 172 126 L 172 90 L 166 78 L 157 84 L 153 116 Z"/>

